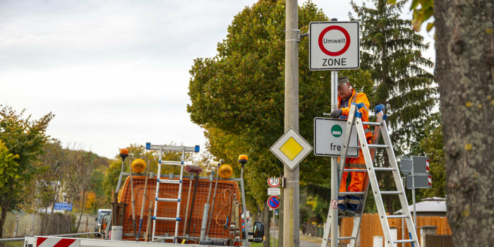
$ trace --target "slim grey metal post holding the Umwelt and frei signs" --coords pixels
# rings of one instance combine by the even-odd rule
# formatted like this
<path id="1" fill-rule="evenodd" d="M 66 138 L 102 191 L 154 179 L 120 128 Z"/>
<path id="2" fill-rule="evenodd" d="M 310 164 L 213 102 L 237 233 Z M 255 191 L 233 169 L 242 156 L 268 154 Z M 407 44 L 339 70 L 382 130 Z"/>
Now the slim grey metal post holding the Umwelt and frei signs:
<path id="1" fill-rule="evenodd" d="M 331 111 L 337 109 L 338 71 L 331 71 Z M 338 158 L 331 157 L 331 200 L 338 200 L 339 176 Z M 338 209 L 331 209 L 331 247 L 338 247 Z"/>

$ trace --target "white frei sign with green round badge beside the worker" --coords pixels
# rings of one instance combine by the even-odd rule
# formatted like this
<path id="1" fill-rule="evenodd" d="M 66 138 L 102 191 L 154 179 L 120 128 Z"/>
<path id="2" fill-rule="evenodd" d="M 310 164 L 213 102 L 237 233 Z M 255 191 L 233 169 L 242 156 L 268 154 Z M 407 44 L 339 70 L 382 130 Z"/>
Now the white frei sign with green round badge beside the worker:
<path id="1" fill-rule="evenodd" d="M 314 119 L 314 155 L 339 157 L 343 148 L 344 131 L 347 120 L 327 119 L 316 117 Z M 356 127 L 351 130 L 349 150 L 347 157 L 359 157 Z M 354 147 L 351 147 L 354 146 Z"/>

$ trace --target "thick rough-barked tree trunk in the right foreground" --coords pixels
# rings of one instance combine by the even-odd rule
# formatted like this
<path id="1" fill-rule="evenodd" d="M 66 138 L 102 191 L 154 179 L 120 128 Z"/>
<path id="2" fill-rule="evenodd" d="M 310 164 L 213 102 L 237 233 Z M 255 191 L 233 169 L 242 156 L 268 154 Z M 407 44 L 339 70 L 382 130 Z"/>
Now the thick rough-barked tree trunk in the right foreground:
<path id="1" fill-rule="evenodd" d="M 494 4 L 436 0 L 435 76 L 455 246 L 494 242 Z"/>

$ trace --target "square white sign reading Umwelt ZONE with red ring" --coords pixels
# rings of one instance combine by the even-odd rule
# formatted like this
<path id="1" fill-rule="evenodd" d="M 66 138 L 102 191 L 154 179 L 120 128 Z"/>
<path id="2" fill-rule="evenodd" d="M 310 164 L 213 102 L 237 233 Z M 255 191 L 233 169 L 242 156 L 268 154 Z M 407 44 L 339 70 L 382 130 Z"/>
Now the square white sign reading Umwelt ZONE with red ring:
<path id="1" fill-rule="evenodd" d="M 309 24 L 309 69 L 344 70 L 360 67 L 359 22 L 325 21 Z"/>

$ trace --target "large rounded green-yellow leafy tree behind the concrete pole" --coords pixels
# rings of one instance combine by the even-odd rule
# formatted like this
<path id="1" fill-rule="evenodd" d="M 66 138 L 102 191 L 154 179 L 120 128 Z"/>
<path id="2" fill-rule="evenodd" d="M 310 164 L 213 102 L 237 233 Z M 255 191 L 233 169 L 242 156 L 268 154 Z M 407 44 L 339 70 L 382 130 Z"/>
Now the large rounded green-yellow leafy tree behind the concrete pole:
<path id="1" fill-rule="evenodd" d="M 307 32 L 308 24 L 316 20 L 327 17 L 313 3 L 299 7 L 301 32 Z M 217 44 L 218 54 L 195 59 L 190 71 L 192 103 L 187 110 L 192 121 L 206 129 L 213 156 L 249 156 L 246 193 L 260 209 L 267 199 L 267 176 L 279 176 L 283 170 L 269 148 L 284 133 L 284 23 L 284 1 L 258 1 L 244 8 L 229 25 L 226 39 Z M 340 76 L 349 76 L 360 92 L 373 88 L 366 71 L 341 71 Z M 330 78 L 329 71 L 308 70 L 308 39 L 302 39 L 299 133 L 310 143 L 314 117 L 330 112 Z M 301 163 L 301 183 L 327 181 L 329 171 L 330 159 L 310 155 Z"/>

